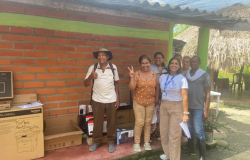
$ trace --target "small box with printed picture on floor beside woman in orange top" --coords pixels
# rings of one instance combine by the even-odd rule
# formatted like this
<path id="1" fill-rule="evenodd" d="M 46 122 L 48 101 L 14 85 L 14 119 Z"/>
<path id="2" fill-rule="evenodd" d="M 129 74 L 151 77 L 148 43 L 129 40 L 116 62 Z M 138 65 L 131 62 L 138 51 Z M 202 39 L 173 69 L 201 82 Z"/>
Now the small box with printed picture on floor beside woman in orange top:
<path id="1" fill-rule="evenodd" d="M 117 129 L 117 145 L 127 142 L 134 141 L 134 129 L 133 128 L 122 128 Z"/>

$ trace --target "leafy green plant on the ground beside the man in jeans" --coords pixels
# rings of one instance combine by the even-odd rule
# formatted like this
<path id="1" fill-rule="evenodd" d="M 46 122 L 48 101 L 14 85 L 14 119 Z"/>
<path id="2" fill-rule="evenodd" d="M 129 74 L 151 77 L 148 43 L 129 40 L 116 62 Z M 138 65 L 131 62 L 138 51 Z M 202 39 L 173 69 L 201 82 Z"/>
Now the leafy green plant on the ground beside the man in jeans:
<path id="1" fill-rule="evenodd" d="M 224 114 L 225 111 L 218 111 L 218 116 L 216 117 L 216 110 L 215 109 L 209 109 L 208 110 L 208 118 L 203 122 L 204 125 L 204 131 L 205 132 L 213 132 L 213 130 L 219 131 L 219 128 L 224 126 L 224 123 L 219 122 L 219 118 L 222 114 Z"/>

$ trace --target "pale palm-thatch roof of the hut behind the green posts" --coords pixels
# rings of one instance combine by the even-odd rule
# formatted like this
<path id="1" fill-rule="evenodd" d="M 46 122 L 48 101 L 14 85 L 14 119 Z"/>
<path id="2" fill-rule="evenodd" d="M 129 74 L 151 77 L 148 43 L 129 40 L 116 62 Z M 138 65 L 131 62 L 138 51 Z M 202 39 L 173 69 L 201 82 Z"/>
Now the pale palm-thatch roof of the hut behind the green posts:
<path id="1" fill-rule="evenodd" d="M 244 18 L 250 22 L 250 6 L 236 4 L 218 11 L 223 15 Z M 197 54 L 199 27 L 192 26 L 175 37 L 186 41 L 182 55 Z M 227 70 L 250 65 L 250 32 L 210 30 L 208 63 L 210 69 Z"/>

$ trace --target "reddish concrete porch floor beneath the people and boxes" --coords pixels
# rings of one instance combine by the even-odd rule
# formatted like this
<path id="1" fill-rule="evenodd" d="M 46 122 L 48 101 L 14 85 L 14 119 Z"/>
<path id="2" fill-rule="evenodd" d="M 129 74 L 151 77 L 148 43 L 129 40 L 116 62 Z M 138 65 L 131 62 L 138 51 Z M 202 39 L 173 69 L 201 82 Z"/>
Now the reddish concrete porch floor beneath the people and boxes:
<path id="1" fill-rule="evenodd" d="M 83 144 L 75 147 L 68 147 L 54 151 L 45 152 L 43 158 L 37 160 L 111 160 L 135 154 L 133 150 L 133 142 L 116 145 L 114 153 L 108 152 L 108 145 L 103 144 L 94 152 L 89 152 L 89 145 L 86 139 L 83 139 Z M 161 141 L 152 138 L 151 146 L 153 149 L 161 147 Z M 144 151 L 143 143 L 141 143 L 142 151 Z"/>

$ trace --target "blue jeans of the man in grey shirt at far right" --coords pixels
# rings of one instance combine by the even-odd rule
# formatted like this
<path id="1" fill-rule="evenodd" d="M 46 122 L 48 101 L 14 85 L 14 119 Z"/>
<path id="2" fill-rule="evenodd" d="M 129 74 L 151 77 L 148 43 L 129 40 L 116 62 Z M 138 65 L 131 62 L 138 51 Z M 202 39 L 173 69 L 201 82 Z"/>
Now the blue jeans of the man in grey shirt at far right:
<path id="1" fill-rule="evenodd" d="M 189 111 L 189 120 L 188 120 L 188 128 L 190 133 L 195 133 L 196 137 L 200 140 L 205 139 L 205 133 L 203 128 L 202 115 L 203 109 L 188 109 Z"/>

